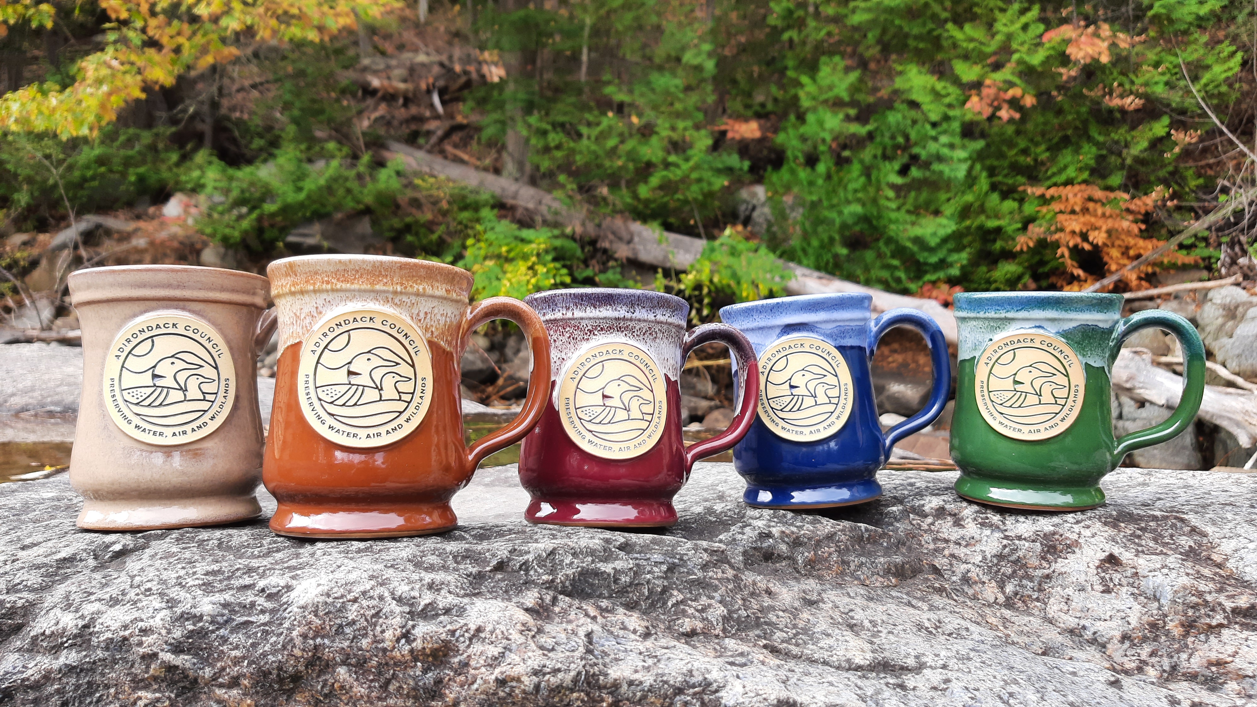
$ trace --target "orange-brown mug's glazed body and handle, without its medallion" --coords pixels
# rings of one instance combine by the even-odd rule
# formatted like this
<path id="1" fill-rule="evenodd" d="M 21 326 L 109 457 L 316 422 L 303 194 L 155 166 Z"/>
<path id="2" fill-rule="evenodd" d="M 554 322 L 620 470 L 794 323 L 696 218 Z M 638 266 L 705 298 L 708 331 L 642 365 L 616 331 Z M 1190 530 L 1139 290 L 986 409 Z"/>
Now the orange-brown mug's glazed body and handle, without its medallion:
<path id="1" fill-rule="evenodd" d="M 449 265 L 402 258 L 312 260 L 309 272 L 302 258 L 278 260 L 270 270 L 280 337 L 289 342 L 279 357 L 264 467 L 264 483 L 279 501 L 272 530 L 303 537 L 393 537 L 456 526 L 449 499 L 481 459 L 518 442 L 541 415 L 549 384 L 549 342 L 541 320 L 518 299 L 497 297 L 469 307 L 470 273 Z M 308 327 L 346 306 L 403 315 L 431 353 L 426 414 L 414 431 L 385 447 L 336 444 L 318 434 L 300 409 L 297 376 Z M 465 448 L 459 360 L 471 330 L 493 318 L 524 330 L 541 367 L 534 367 L 515 420 Z"/>

